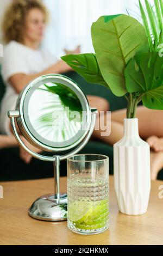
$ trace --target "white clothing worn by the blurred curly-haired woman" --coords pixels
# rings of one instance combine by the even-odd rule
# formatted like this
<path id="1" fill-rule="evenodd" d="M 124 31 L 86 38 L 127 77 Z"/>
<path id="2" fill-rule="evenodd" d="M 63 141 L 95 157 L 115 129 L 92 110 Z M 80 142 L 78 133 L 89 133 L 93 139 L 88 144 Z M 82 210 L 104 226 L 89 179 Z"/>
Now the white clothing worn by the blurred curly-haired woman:
<path id="1" fill-rule="evenodd" d="M 10 135 L 8 111 L 15 110 L 18 94 L 8 82 L 9 78 L 15 74 L 34 75 L 42 72 L 55 64 L 57 58 L 41 47 L 33 50 L 16 41 L 11 41 L 4 47 L 3 56 L 2 77 L 7 88 L 1 103 L 0 131 Z"/>

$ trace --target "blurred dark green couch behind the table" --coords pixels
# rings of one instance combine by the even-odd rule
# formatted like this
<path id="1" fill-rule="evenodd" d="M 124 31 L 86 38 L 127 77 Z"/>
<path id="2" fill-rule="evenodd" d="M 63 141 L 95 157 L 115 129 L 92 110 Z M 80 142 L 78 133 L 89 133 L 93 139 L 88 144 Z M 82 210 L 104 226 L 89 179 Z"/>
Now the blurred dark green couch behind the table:
<path id="1" fill-rule="evenodd" d="M 76 72 L 68 72 L 67 77 L 76 81 L 87 95 L 97 95 L 104 97 L 110 103 L 110 111 L 127 107 L 127 101 L 124 97 L 116 97 L 107 88 L 98 84 L 87 83 Z M 0 102 L 5 92 L 5 86 L 0 75 Z M 12 110 L 12 109 L 10 109 Z M 109 156 L 109 173 L 113 174 L 113 148 L 106 143 L 92 140 L 79 154 L 102 154 Z M 43 154 L 43 153 L 42 153 Z M 51 153 L 44 153 L 52 155 Z M 54 155 L 54 153 L 53 153 Z M 61 161 L 60 175 L 66 175 L 66 161 Z M 53 164 L 32 159 L 30 164 L 24 163 L 19 157 L 18 148 L 7 148 L 0 150 L 0 181 L 9 180 L 27 180 L 49 178 L 53 176 Z M 158 179 L 163 180 L 163 171 L 159 173 Z"/>

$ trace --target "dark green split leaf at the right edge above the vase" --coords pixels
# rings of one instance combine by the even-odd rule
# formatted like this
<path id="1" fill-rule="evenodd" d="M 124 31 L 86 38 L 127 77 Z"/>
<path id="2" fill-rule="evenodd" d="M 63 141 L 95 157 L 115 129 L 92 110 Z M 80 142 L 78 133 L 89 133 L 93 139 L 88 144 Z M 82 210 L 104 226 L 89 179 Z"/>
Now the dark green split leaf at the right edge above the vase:
<path id="1" fill-rule="evenodd" d="M 124 74 L 129 93 L 142 93 L 147 108 L 163 109 L 163 58 L 158 52 L 136 54 Z"/>

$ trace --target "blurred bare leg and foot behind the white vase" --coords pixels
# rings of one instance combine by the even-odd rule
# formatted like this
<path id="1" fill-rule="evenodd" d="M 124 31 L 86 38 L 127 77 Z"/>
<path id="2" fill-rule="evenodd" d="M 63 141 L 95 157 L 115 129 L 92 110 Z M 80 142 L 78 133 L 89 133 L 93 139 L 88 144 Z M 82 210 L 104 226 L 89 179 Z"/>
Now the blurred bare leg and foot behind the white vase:
<path id="1" fill-rule="evenodd" d="M 106 119 L 105 114 L 105 119 Z M 112 112 L 111 135 L 101 137 L 102 130 L 94 131 L 93 136 L 111 145 L 123 137 L 123 119 L 126 118 L 126 109 Z M 147 140 L 154 151 L 151 151 L 151 179 L 156 179 L 158 172 L 163 168 L 163 111 L 148 109 L 143 106 L 137 108 L 140 137 Z M 97 120 L 99 121 L 99 120 Z M 106 120 L 105 120 L 106 122 Z M 153 137 L 155 136 L 155 137 Z M 154 144 L 155 143 L 155 144 Z"/>

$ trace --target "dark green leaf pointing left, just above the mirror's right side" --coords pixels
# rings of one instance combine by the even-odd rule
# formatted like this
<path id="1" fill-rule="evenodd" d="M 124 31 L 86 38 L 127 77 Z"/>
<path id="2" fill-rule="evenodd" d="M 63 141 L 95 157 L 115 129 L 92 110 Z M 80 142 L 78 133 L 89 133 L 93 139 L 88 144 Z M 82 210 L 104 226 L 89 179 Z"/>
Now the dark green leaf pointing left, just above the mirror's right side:
<path id="1" fill-rule="evenodd" d="M 72 69 L 84 77 L 89 83 L 101 84 L 107 88 L 108 84 L 104 81 L 94 53 L 70 54 L 61 57 Z"/>

